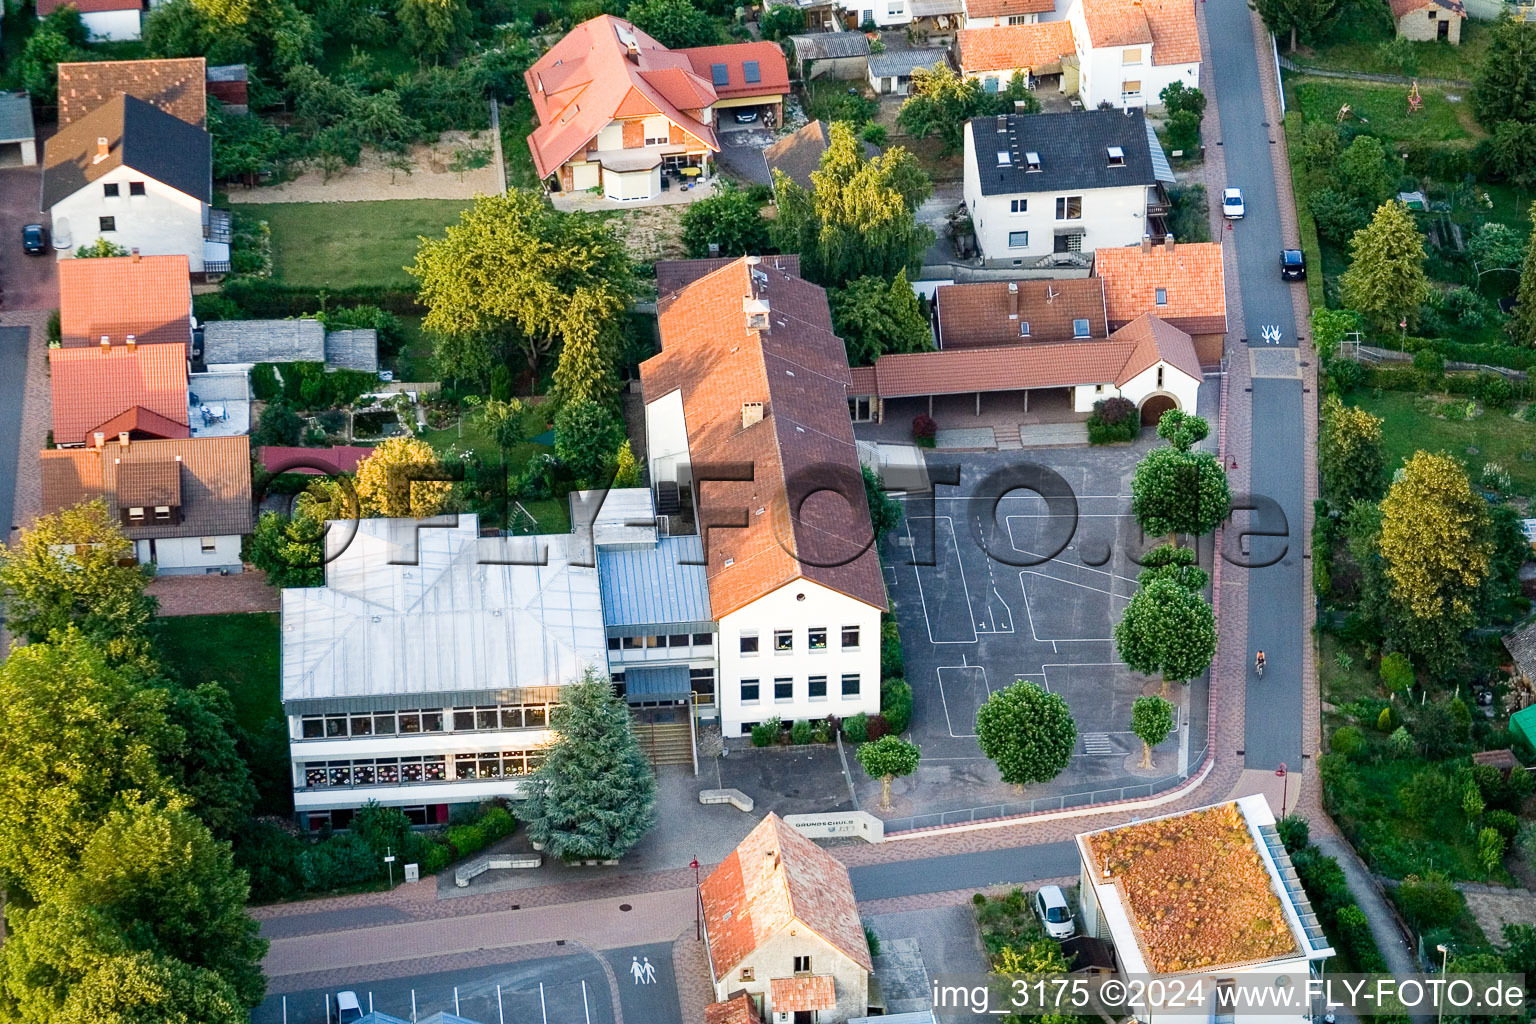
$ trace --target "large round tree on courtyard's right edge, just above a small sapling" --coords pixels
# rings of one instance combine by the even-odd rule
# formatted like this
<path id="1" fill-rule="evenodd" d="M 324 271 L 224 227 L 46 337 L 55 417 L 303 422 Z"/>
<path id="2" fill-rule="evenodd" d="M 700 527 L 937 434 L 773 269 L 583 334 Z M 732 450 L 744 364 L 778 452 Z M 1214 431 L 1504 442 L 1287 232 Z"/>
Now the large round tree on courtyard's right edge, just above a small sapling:
<path id="1" fill-rule="evenodd" d="M 1152 580 L 1130 599 L 1115 625 L 1120 660 L 1143 676 L 1189 682 L 1217 656 L 1217 617 L 1206 600 L 1169 579 Z"/>

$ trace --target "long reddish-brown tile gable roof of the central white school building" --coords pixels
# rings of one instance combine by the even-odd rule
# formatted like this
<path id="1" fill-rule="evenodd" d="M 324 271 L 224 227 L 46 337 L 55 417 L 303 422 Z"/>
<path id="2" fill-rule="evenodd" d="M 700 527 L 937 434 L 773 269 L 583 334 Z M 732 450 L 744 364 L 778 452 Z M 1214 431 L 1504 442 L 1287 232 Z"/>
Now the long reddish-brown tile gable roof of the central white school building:
<path id="1" fill-rule="evenodd" d="M 746 325 L 748 301 L 768 304 L 766 330 Z M 662 296 L 659 313 L 662 352 L 641 364 L 645 401 L 680 391 L 693 461 L 750 464 L 756 474 L 703 488 L 703 516 L 748 510 L 745 528 L 710 531 L 714 617 L 799 579 L 885 609 L 863 528 L 848 355 L 826 292 L 770 261 L 736 259 Z M 760 404 L 762 419 L 743 425 L 748 404 Z M 848 485 L 848 500 L 828 474 Z"/>

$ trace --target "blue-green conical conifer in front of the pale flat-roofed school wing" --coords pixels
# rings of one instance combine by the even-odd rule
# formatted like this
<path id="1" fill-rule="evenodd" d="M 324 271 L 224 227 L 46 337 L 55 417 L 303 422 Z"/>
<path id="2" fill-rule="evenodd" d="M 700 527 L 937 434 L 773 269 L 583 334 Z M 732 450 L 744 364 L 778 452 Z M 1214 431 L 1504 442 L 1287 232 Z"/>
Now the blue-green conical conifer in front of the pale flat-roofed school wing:
<path id="1" fill-rule="evenodd" d="M 656 774 L 605 677 L 561 691 L 559 737 L 528 781 L 528 837 L 564 860 L 622 857 L 656 821 Z"/>

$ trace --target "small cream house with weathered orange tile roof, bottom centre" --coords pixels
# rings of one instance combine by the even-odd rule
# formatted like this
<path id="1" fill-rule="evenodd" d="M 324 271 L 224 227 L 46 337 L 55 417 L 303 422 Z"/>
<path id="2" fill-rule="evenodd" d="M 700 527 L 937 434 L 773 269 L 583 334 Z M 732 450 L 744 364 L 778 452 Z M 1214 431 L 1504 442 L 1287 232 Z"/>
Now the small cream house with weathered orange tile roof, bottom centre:
<path id="1" fill-rule="evenodd" d="M 872 964 L 848 869 L 777 814 L 710 872 L 699 903 L 716 999 L 745 993 L 776 1024 L 869 1012 Z"/>

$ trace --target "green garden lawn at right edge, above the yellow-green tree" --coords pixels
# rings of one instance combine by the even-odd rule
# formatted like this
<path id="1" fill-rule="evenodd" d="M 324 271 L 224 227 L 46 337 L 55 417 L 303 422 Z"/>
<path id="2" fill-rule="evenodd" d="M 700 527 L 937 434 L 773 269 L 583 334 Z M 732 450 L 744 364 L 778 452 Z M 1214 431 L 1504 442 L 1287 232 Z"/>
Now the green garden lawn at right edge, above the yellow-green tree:
<path id="1" fill-rule="evenodd" d="M 1441 419 L 1432 410 L 1438 402 L 1450 401 L 1448 396 L 1376 395 L 1362 388 L 1349 401 L 1385 421 L 1381 442 L 1389 471 L 1419 448 L 1448 451 L 1467 464 L 1473 481 L 1485 462 L 1498 462 L 1508 471 L 1516 491 L 1536 491 L 1536 424 L 1493 408 L 1484 408 L 1473 419 Z"/>

